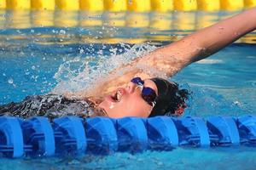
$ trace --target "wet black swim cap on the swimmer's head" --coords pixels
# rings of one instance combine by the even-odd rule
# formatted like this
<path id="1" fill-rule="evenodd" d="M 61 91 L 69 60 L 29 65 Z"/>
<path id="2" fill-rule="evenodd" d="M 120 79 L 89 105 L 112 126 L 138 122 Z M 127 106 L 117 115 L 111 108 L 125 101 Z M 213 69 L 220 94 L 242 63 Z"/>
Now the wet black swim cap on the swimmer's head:
<path id="1" fill-rule="evenodd" d="M 154 77 L 150 80 L 156 84 L 158 96 L 149 117 L 164 116 L 168 112 L 172 115 L 178 109 L 186 108 L 185 100 L 188 99 L 188 90 L 179 90 L 176 82 L 169 82 L 163 78 Z"/>

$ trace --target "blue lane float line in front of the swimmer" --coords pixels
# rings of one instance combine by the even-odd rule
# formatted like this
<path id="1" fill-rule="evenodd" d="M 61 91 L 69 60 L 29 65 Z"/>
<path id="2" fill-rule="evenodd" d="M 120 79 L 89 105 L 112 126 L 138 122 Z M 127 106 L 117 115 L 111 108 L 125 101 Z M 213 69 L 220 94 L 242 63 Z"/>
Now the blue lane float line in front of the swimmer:
<path id="1" fill-rule="evenodd" d="M 26 120 L 0 116 L 0 153 L 6 157 L 107 155 L 240 144 L 256 146 L 256 116 L 65 116 L 52 122 L 40 116 Z"/>

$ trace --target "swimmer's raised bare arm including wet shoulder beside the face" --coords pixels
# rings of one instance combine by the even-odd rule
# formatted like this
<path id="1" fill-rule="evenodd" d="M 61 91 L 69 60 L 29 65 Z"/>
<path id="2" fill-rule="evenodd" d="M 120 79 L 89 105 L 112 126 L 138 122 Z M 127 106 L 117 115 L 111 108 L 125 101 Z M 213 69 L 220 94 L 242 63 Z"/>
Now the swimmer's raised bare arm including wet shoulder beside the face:
<path id="1" fill-rule="evenodd" d="M 172 77 L 183 67 L 205 59 L 255 29 L 256 8 L 252 8 L 134 59 L 128 65 L 122 65 L 98 83 L 102 85 L 97 85 L 96 90 L 90 89 L 93 93 L 84 92 L 80 95 L 108 94 L 114 88 L 125 85 L 132 77 L 137 76 Z"/>

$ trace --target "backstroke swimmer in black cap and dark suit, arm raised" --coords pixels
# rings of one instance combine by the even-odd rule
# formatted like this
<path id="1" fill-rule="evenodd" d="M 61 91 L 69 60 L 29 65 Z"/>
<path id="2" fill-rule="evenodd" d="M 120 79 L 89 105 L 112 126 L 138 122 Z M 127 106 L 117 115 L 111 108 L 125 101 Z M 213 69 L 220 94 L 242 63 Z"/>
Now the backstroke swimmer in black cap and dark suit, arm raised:
<path id="1" fill-rule="evenodd" d="M 255 29 L 256 8 L 252 8 L 120 66 L 87 91 L 65 96 L 30 96 L 20 103 L 0 106 L 0 114 L 49 118 L 65 115 L 179 116 L 186 108 L 189 93 L 166 78 Z M 154 74 L 143 68 L 154 69 Z"/>

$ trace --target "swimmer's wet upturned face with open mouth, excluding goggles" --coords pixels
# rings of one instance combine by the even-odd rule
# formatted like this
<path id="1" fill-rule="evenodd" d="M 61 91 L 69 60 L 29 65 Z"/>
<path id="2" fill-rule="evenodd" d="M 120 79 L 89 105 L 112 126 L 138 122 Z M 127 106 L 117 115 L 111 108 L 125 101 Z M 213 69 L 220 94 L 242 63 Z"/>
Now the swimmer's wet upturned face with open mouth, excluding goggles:
<path id="1" fill-rule="evenodd" d="M 143 87 L 154 89 L 157 87 L 152 80 L 144 80 Z M 105 97 L 99 105 L 109 117 L 119 118 L 124 116 L 148 117 L 153 107 L 142 97 L 142 89 L 138 85 L 129 82 L 125 88 L 117 88 L 111 95 Z"/>

